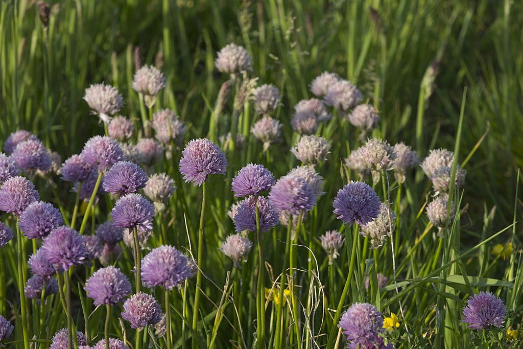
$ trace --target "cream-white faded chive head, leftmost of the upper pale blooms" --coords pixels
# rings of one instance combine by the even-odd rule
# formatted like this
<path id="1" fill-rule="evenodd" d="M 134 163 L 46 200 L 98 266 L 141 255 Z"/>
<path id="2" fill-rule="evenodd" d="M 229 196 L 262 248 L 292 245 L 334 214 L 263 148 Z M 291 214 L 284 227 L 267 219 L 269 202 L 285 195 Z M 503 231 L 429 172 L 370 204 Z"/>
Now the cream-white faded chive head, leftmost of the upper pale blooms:
<path id="1" fill-rule="evenodd" d="M 115 115 L 123 107 L 123 96 L 116 87 L 104 83 L 90 85 L 85 89 L 84 100 L 92 109 L 93 114 L 108 123 L 110 115 Z"/>

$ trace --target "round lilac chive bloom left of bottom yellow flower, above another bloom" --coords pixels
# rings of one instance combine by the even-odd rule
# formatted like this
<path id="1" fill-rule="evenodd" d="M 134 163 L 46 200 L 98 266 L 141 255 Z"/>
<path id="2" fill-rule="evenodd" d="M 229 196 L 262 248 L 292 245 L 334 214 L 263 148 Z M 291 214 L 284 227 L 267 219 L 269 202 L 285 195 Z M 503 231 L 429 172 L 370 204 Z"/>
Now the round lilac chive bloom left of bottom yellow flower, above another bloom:
<path id="1" fill-rule="evenodd" d="M 383 317 L 369 303 L 354 303 L 343 313 L 338 326 L 349 341 L 373 341 L 383 332 Z"/>

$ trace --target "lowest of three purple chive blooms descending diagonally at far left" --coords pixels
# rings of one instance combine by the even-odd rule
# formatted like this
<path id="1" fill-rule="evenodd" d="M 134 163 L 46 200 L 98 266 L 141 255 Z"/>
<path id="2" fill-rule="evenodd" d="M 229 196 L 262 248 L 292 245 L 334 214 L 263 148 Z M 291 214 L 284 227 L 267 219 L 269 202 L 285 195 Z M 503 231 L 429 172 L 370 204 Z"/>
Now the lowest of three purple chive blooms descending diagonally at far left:
<path id="1" fill-rule="evenodd" d="M 63 268 L 64 271 L 82 264 L 87 258 L 84 237 L 65 226 L 53 230 L 43 241 L 41 249 L 55 268 Z"/>

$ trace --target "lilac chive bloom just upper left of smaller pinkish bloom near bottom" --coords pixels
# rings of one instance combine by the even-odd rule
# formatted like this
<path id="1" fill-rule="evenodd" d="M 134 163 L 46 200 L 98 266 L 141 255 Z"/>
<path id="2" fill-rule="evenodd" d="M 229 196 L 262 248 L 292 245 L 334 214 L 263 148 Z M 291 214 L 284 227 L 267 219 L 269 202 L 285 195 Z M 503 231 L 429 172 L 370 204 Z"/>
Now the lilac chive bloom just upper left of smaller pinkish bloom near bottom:
<path id="1" fill-rule="evenodd" d="M 114 306 L 131 294 L 131 283 L 119 268 L 108 266 L 98 269 L 85 283 L 87 297 L 95 306 Z"/>

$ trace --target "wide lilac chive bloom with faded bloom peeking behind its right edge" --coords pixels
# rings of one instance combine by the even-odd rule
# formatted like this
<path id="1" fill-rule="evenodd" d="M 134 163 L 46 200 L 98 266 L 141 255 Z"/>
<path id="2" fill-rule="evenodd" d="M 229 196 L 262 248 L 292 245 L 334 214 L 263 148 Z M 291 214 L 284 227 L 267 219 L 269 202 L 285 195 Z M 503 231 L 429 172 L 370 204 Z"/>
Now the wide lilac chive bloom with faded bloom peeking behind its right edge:
<path id="1" fill-rule="evenodd" d="M 142 259 L 142 284 L 173 289 L 193 275 L 187 256 L 173 246 L 162 245 Z"/>

